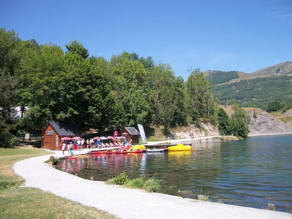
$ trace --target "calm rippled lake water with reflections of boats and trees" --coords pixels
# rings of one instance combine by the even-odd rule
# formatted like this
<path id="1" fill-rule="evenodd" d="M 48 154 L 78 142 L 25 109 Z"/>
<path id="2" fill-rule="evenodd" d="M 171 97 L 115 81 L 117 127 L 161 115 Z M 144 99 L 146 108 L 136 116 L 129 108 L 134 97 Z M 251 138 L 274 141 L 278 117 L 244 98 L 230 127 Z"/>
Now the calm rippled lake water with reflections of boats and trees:
<path id="1" fill-rule="evenodd" d="M 277 211 L 292 210 L 292 135 L 193 144 L 192 152 L 91 155 L 62 160 L 58 169 L 105 181 L 121 172 L 130 178 L 162 179 L 162 192 Z"/>

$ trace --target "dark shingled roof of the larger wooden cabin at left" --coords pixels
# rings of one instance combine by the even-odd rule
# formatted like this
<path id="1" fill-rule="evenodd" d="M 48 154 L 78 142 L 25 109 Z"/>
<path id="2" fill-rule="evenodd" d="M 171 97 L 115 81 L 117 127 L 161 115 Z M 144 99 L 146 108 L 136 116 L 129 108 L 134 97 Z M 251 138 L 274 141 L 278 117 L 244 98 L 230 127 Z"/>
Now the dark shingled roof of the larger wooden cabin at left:
<path id="1" fill-rule="evenodd" d="M 60 136 L 80 136 L 81 132 L 78 128 L 68 122 L 48 121 L 56 133 Z"/>

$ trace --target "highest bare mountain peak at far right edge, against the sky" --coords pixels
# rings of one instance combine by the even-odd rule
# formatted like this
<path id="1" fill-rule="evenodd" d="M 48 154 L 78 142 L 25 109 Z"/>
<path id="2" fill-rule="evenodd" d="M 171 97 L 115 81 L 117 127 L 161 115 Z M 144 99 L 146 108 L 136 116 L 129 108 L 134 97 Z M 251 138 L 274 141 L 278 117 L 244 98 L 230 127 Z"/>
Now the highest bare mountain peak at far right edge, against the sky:
<path id="1" fill-rule="evenodd" d="M 292 75 L 292 62 L 282 62 L 277 65 L 259 69 L 251 73 L 252 75 L 262 76 L 262 75 Z"/>

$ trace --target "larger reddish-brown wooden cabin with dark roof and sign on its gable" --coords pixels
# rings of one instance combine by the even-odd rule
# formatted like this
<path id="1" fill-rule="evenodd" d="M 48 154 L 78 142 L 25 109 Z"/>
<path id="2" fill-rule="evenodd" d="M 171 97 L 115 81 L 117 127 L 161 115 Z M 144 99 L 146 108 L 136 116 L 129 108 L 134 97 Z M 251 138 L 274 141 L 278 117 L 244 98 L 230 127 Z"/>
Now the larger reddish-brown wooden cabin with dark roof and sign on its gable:
<path id="1" fill-rule="evenodd" d="M 41 133 L 41 148 L 60 150 L 61 138 L 75 136 L 81 136 L 76 126 L 66 122 L 48 121 Z"/>

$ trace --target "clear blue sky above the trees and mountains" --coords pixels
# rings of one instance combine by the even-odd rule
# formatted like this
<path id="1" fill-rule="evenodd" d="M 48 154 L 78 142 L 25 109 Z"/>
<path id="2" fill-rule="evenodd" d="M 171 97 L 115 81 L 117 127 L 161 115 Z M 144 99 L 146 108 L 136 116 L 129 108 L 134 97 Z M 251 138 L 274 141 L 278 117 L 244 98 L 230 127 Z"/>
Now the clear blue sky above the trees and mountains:
<path id="1" fill-rule="evenodd" d="M 20 39 L 73 39 L 90 55 L 123 51 L 187 69 L 251 73 L 292 61 L 292 1 L 0 0 L 0 27 Z"/>

